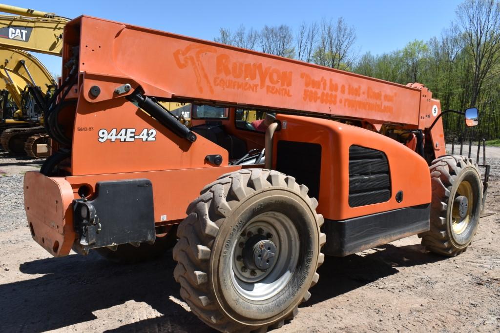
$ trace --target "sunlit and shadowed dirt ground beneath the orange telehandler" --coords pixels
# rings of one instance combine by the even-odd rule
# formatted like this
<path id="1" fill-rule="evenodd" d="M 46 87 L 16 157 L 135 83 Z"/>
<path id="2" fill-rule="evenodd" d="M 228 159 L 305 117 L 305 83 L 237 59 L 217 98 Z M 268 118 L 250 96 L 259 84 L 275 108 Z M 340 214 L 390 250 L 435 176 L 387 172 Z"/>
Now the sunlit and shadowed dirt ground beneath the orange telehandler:
<path id="1" fill-rule="evenodd" d="M 500 148 L 488 160 L 500 205 Z M 22 163 L 0 153 L 0 164 Z M 30 237 L 22 175 L 0 165 L 1 332 L 212 332 L 181 301 L 171 253 L 116 265 L 90 253 L 51 258 Z M 326 258 L 312 297 L 272 332 L 500 332 L 500 214 L 482 218 L 462 255 L 426 253 L 416 236 Z"/>

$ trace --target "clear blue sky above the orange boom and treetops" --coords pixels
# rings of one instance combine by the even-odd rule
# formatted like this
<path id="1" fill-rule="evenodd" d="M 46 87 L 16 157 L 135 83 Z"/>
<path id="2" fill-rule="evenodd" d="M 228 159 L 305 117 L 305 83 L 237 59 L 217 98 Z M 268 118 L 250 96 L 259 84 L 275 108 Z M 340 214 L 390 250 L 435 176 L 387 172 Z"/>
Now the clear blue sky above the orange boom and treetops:
<path id="1" fill-rule="evenodd" d="M 461 0 L 236 0 L 137 1 L 16 0 L 25 8 L 54 12 L 69 18 L 81 14 L 213 40 L 220 27 L 235 30 L 240 24 L 257 30 L 287 24 L 296 31 L 300 22 L 343 16 L 356 30 L 355 50 L 380 54 L 400 49 L 414 39 L 439 36 L 455 18 Z M 60 74 L 61 59 L 35 54 L 53 74 Z"/>

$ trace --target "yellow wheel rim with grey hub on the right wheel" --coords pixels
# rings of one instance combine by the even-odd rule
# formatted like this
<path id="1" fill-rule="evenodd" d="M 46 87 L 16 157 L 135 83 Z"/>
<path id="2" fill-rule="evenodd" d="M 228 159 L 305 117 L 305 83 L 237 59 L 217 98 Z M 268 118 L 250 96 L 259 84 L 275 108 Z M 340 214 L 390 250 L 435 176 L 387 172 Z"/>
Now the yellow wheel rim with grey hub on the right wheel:
<path id="1" fill-rule="evenodd" d="M 474 204 L 472 185 L 464 180 L 456 190 L 451 210 L 451 229 L 455 234 L 462 234 L 469 226 Z"/>

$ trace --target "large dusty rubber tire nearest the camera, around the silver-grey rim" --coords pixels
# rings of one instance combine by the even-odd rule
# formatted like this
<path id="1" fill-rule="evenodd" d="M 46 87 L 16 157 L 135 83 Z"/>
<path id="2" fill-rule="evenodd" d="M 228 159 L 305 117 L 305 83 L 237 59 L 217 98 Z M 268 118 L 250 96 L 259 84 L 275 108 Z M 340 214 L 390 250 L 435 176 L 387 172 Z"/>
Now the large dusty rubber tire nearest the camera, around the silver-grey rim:
<path id="1" fill-rule="evenodd" d="M 173 249 L 174 278 L 180 283 L 180 296 L 201 321 L 221 332 L 265 332 L 293 318 L 297 306 L 309 299 L 308 290 L 316 284 L 316 270 L 324 261 L 320 248 L 325 235 L 320 232 L 324 219 L 315 211 L 317 201 L 307 191 L 277 171 L 243 169 L 220 176 L 189 205 Z M 298 231 L 299 240 L 293 243 L 298 260 L 276 295 L 250 301 L 231 283 L 232 259 L 227 253 L 246 222 L 266 212 L 294 217 L 289 221 Z"/>

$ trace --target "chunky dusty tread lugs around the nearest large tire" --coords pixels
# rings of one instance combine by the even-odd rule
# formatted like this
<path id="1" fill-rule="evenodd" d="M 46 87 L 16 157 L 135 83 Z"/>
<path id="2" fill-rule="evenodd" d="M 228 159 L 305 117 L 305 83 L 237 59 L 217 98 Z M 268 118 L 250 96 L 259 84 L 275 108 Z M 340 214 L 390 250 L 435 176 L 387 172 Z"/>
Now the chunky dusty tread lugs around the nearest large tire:
<path id="1" fill-rule="evenodd" d="M 180 296 L 189 305 L 193 314 L 208 326 L 221 332 L 266 332 L 267 326 L 253 328 L 232 322 L 224 317 L 213 302 L 208 283 L 208 260 L 211 246 L 217 236 L 223 218 L 231 213 L 237 202 L 251 193 L 267 187 L 288 188 L 301 195 L 315 209 L 317 200 L 309 198 L 307 187 L 298 185 L 295 178 L 280 172 L 266 169 L 244 169 L 220 176 L 216 181 L 205 186 L 200 196 L 187 208 L 187 217 L 177 229 L 180 241 L 173 248 L 173 259 L 177 261 L 174 279 L 181 286 Z M 230 199 L 230 200 L 229 200 Z M 320 232 L 324 223 L 321 214 L 316 214 L 320 247 L 324 244 L 325 234 Z M 324 255 L 319 252 L 317 268 L 323 263 Z M 317 283 L 319 275 L 314 273 L 310 286 Z M 302 295 L 307 301 L 310 293 Z M 286 314 L 282 320 L 270 328 L 281 327 L 284 320 L 291 320 L 298 312 L 297 307 Z"/>

